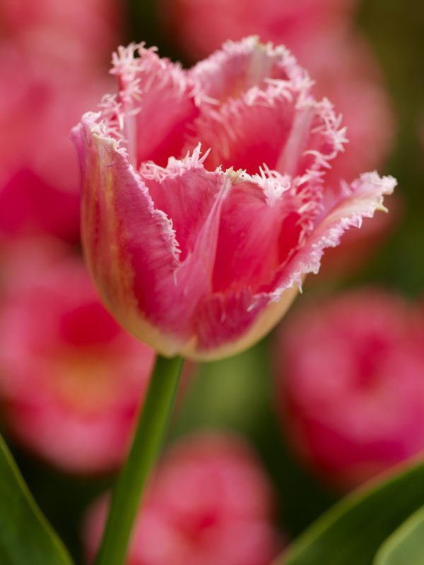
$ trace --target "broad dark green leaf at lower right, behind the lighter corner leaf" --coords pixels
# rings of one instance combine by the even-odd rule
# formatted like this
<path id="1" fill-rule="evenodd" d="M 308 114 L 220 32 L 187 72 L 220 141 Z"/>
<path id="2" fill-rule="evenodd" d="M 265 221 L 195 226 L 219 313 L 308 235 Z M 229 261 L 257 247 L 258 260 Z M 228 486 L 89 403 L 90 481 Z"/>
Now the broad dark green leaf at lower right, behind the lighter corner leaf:
<path id="1" fill-rule="evenodd" d="M 401 469 L 338 502 L 274 565 L 372 565 L 382 542 L 424 504 L 424 461 Z"/>

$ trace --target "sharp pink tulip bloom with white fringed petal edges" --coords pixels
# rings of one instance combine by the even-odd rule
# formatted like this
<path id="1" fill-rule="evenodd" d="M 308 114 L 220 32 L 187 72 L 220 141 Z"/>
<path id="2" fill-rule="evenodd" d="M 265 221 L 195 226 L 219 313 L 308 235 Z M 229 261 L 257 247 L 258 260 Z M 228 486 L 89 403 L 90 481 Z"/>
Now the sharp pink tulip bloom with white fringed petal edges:
<path id="1" fill-rule="evenodd" d="M 232 355 L 396 183 L 373 172 L 326 185 L 344 129 L 285 48 L 228 42 L 189 71 L 138 52 L 119 49 L 117 96 L 73 130 L 90 271 L 163 355 Z"/>

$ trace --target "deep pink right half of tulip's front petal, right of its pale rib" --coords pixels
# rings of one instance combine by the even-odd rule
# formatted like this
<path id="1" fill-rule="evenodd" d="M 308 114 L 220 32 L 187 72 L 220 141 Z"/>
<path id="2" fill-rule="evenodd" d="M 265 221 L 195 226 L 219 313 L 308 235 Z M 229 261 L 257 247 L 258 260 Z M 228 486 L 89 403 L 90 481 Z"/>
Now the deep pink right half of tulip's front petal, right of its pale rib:
<path id="1" fill-rule="evenodd" d="M 232 173 L 223 203 L 212 290 L 223 295 L 248 288 L 267 290 L 275 273 L 298 250 L 310 220 L 320 210 L 320 193 L 305 195 L 288 175 L 261 171 Z M 316 194 L 315 194 L 316 193 Z"/>

